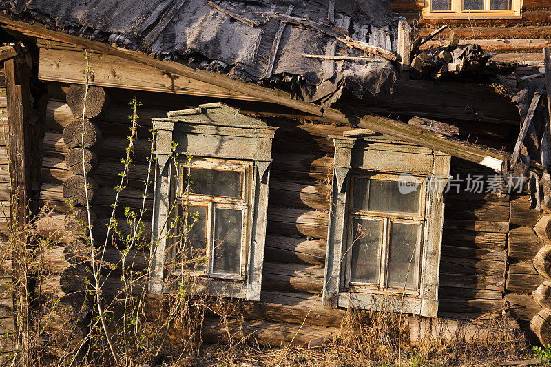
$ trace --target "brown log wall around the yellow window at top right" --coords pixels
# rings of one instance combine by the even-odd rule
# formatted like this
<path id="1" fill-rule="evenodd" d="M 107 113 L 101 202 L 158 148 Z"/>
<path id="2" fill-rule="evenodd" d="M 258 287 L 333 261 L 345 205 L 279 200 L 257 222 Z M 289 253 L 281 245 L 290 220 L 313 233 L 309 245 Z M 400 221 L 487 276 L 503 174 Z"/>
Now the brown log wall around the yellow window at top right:
<path id="1" fill-rule="evenodd" d="M 447 39 L 453 31 L 463 43 L 473 39 L 486 51 L 498 51 L 496 61 L 528 61 L 532 66 L 543 65 L 539 56 L 551 39 L 551 1 L 523 0 L 519 19 L 423 19 L 424 0 L 391 0 L 391 9 L 406 18 L 408 23 L 419 28 L 426 36 L 440 25 L 450 25 L 439 36 Z M 428 42 L 425 47 L 437 45 L 439 41 Z M 539 53 L 539 54 L 535 54 Z"/>

